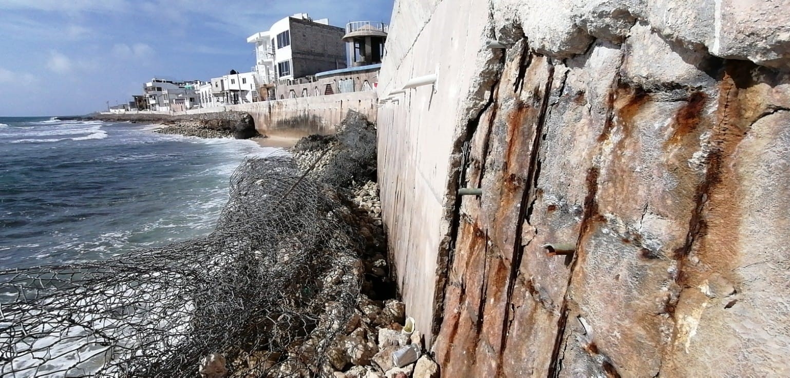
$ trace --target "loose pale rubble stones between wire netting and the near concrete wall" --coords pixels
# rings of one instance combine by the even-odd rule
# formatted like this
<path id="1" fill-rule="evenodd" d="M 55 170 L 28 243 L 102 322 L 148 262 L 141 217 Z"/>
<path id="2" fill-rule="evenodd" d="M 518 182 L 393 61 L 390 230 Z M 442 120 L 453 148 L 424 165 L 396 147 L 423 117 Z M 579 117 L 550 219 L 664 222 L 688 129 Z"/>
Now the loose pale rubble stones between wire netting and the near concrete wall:
<path id="1" fill-rule="evenodd" d="M 349 223 L 365 239 L 360 256 L 362 292 L 344 332 L 331 341 L 328 361 L 320 372 L 331 378 L 435 378 L 438 365 L 424 350 L 423 337 L 406 316 L 404 303 L 396 299 L 389 275 L 382 207 L 374 182 L 374 138 L 374 125 L 349 117 L 337 135 L 306 137 L 292 150 L 295 163 L 310 170 L 310 176 L 348 183 L 340 185 L 340 193 L 350 211 Z"/>

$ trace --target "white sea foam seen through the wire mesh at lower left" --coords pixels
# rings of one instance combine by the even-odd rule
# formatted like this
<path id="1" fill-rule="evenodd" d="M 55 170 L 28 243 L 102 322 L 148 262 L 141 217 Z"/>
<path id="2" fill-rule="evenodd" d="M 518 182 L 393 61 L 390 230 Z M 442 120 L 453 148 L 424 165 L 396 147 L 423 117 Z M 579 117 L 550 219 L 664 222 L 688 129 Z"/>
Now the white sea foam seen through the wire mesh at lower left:
<path id="1" fill-rule="evenodd" d="M 158 275 L 160 273 L 152 273 L 151 278 Z M 124 360 L 133 354 L 161 353 L 165 348 L 182 342 L 183 335 L 190 329 L 194 302 L 184 300 L 178 289 L 157 283 L 139 285 L 120 282 L 112 288 L 96 287 L 93 290 L 96 291 L 81 291 L 79 295 L 82 299 L 77 302 L 73 302 L 70 297 L 49 298 L 44 300 L 45 304 L 36 305 L 36 308 L 50 310 L 41 311 L 30 307 L 29 311 L 20 312 L 32 320 L 28 327 L 33 326 L 31 329 L 37 336 L 35 339 L 19 340 L 15 347 L 32 353 L 19 355 L 9 363 L 0 365 L 0 376 L 6 376 L 7 373 L 17 377 L 92 376 L 107 361 Z M 151 306 L 155 303 L 156 308 Z M 73 318 L 74 314 L 69 310 L 72 308 L 82 310 L 78 317 L 81 325 L 63 321 Z M 174 316 L 167 309 L 184 311 Z M 9 321 L 14 319 L 6 319 L 6 322 Z M 147 344 L 146 339 L 138 339 L 141 335 L 134 332 L 130 324 L 137 324 L 137 329 L 145 324 L 152 335 L 160 331 L 160 342 Z M 111 342 L 97 337 L 95 330 L 119 341 Z M 3 339 L 2 336 L 0 339 Z M 145 350 L 128 349 L 139 346 L 138 342 L 146 343 Z M 112 370 L 105 368 L 104 373 L 117 373 Z"/>

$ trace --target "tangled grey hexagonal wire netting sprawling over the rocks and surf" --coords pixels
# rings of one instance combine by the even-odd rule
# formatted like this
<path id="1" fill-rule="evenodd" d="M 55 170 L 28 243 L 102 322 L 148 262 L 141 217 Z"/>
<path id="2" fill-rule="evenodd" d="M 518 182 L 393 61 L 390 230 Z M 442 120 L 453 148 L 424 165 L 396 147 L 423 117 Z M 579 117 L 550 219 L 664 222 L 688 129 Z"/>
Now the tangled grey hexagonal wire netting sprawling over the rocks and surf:
<path id="1" fill-rule="evenodd" d="M 0 271 L 0 376 L 194 377 L 213 354 L 228 376 L 320 375 L 363 275 L 335 184 L 287 155 L 247 159 L 205 238 Z"/>

